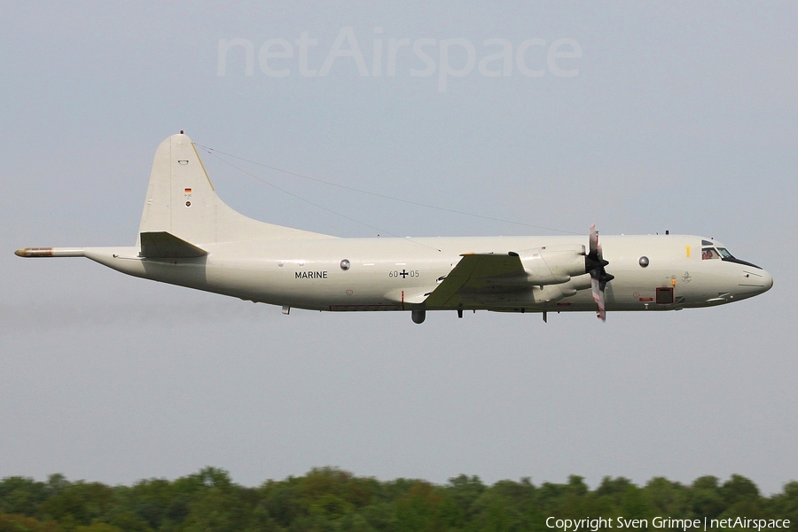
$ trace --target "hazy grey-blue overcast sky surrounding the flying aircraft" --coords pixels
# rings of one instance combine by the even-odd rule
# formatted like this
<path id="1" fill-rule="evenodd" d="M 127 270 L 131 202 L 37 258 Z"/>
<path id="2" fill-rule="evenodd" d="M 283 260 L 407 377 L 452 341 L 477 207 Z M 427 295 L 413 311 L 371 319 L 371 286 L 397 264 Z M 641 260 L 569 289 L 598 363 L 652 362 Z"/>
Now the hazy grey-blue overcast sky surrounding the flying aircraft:
<path id="1" fill-rule="evenodd" d="M 215 465 L 255 485 L 334 465 L 435 482 L 739 473 L 765 493 L 798 480 L 796 4 L 303 4 L 0 3 L 0 477 L 130 483 Z M 408 44 L 389 72 L 392 40 Z M 200 151 L 223 200 L 270 223 L 669 230 L 719 239 L 775 286 L 606 324 L 447 312 L 414 325 L 286 317 L 13 255 L 132 245 L 154 150 L 179 129 L 303 176 L 516 222 L 235 162 L 354 223 Z"/>

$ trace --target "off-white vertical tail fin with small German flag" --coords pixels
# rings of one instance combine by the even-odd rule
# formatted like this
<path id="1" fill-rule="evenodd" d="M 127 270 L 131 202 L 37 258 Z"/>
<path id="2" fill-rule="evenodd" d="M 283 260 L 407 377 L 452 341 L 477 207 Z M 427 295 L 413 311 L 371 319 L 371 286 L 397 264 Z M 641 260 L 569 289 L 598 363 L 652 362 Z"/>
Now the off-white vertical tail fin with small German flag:
<path id="1" fill-rule="evenodd" d="M 200 154 L 182 132 L 155 151 L 147 187 L 141 233 L 167 232 L 195 245 L 255 239 L 323 239 L 329 235 L 300 231 L 247 218 L 216 196 Z"/>

